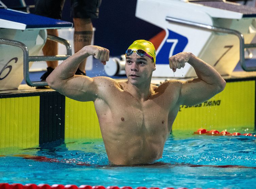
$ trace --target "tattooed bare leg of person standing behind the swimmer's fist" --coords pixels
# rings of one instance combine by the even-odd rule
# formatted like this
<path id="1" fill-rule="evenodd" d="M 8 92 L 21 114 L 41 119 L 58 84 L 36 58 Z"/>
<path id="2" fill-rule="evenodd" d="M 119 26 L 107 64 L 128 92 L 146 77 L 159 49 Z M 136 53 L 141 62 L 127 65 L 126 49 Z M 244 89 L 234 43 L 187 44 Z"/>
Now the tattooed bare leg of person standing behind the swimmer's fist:
<path id="1" fill-rule="evenodd" d="M 93 27 L 90 18 L 73 18 L 74 21 L 74 51 L 77 52 L 92 41 Z M 80 63 L 79 69 L 85 72 L 86 59 Z"/>

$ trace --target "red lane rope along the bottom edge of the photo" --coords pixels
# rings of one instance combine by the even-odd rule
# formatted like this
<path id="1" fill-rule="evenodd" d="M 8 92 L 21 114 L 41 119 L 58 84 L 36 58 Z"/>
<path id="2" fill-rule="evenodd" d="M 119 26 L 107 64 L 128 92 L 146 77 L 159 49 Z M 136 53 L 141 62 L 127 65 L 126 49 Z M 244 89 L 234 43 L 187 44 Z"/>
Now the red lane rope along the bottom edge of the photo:
<path id="1" fill-rule="evenodd" d="M 35 185 L 35 184 L 8 184 L 8 183 L 0 183 L 0 189 L 133 189 L 130 186 L 123 186 L 123 187 L 118 187 L 118 186 L 108 186 L 107 188 L 105 188 L 104 186 L 90 186 L 90 185 L 81 185 L 81 186 L 76 186 L 76 185 L 61 185 L 61 184 L 54 184 L 52 186 L 48 185 L 48 184 L 39 184 L 39 185 Z M 146 187 L 136 187 L 134 189 L 160 189 L 158 187 L 150 187 L 150 188 L 146 188 Z M 166 187 L 163 189 L 175 189 L 172 187 Z M 188 189 L 188 188 L 176 188 L 176 189 Z M 193 188 L 193 189 L 202 189 L 202 188 Z M 215 189 L 215 188 L 207 188 L 207 189 Z"/>

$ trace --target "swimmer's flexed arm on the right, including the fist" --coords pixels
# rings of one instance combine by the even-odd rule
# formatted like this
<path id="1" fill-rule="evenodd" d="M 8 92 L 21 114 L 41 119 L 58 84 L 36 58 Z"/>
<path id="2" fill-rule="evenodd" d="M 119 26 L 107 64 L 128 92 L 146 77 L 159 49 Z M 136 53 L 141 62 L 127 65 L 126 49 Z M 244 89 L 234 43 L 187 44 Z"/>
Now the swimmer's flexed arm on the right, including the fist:
<path id="1" fill-rule="evenodd" d="M 169 61 L 173 71 L 184 67 L 185 62 L 189 63 L 198 76 L 196 79 L 181 82 L 179 102 L 182 105 L 191 106 L 202 103 L 225 88 L 226 82 L 220 74 L 211 65 L 190 52 L 181 52 L 170 57 Z"/>

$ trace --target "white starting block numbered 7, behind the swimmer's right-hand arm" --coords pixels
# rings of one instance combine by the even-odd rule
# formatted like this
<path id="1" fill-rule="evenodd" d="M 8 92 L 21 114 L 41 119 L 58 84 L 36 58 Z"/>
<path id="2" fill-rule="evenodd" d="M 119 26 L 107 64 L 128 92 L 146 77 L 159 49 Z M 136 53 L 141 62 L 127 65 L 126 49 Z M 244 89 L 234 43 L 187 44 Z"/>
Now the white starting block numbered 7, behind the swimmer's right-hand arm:
<path id="1" fill-rule="evenodd" d="M 182 51 L 212 65 L 222 76 L 230 75 L 240 60 L 245 71 L 244 50 L 256 34 L 256 8 L 222 0 L 138 0 L 136 17 L 165 30 L 156 53 L 153 77 L 196 77 L 189 64 L 175 76 L 168 58 Z"/>

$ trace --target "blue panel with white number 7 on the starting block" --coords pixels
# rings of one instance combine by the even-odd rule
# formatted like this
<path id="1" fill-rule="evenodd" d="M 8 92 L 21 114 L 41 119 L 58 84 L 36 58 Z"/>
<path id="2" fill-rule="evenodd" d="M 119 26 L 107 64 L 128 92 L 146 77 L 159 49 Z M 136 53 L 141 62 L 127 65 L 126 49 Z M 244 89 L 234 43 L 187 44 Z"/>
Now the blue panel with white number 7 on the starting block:
<path id="1" fill-rule="evenodd" d="M 182 52 L 185 46 L 187 45 L 188 40 L 186 37 L 175 32 L 172 32 L 171 30 L 168 30 L 168 32 L 168 38 L 165 40 L 165 43 L 161 47 L 160 51 L 158 51 L 156 58 L 157 64 L 169 64 L 169 54 L 171 48 L 173 48 L 172 55 L 176 55 L 177 53 Z"/>

